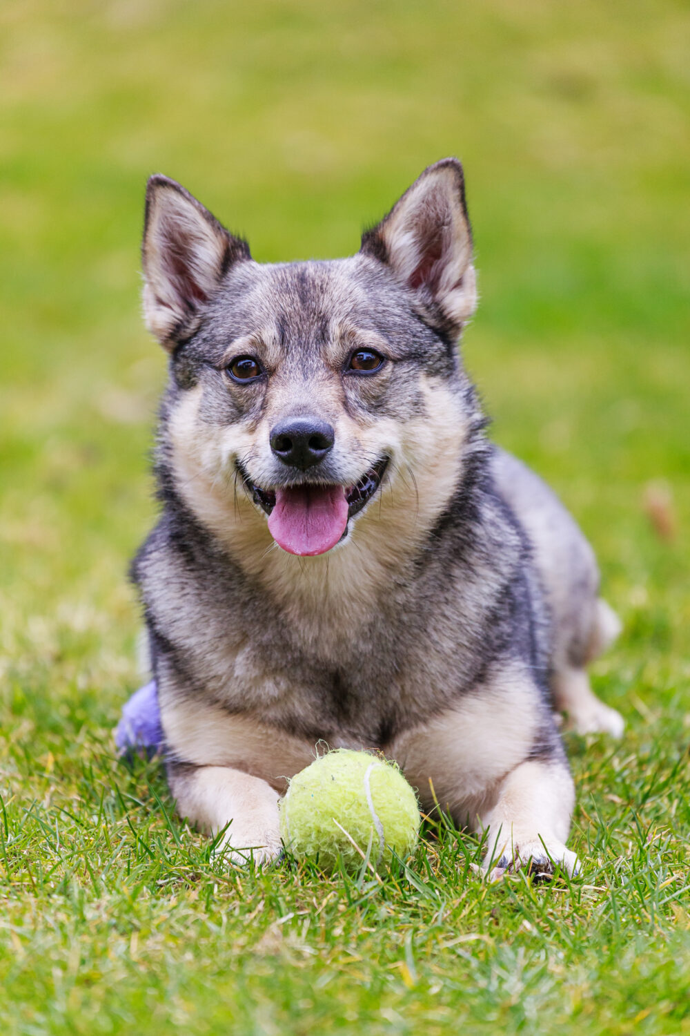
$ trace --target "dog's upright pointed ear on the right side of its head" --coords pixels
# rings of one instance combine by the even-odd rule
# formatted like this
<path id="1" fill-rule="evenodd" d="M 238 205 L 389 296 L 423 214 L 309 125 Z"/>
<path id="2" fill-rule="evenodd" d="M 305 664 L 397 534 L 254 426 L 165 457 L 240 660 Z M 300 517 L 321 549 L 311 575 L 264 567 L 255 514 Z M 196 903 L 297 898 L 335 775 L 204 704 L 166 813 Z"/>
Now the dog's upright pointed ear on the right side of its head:
<path id="1" fill-rule="evenodd" d="M 388 215 L 363 234 L 361 251 L 387 263 L 429 318 L 457 337 L 477 305 L 472 230 L 457 159 L 425 169 Z"/>

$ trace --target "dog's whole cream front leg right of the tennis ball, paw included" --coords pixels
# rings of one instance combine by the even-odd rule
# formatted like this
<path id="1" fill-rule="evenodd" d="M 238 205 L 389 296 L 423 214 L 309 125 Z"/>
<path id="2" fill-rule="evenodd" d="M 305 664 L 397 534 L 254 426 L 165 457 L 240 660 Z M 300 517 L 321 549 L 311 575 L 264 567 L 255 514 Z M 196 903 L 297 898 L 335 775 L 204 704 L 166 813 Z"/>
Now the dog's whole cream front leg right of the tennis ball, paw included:
<path id="1" fill-rule="evenodd" d="M 459 826 L 487 832 L 486 869 L 532 860 L 543 873 L 553 869 L 550 858 L 575 870 L 565 844 L 573 780 L 543 694 L 521 664 L 489 673 L 451 709 L 399 735 L 388 752 L 424 809 L 440 806 Z"/>

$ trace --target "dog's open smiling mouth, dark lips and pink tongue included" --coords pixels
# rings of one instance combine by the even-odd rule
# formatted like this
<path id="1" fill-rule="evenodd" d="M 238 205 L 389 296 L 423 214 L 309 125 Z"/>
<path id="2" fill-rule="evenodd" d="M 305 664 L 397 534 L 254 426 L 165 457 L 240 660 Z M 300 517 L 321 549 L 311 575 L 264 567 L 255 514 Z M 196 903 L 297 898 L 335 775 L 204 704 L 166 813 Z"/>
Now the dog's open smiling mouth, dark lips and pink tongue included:
<path id="1" fill-rule="evenodd" d="M 268 515 L 271 536 L 290 554 L 323 554 L 346 535 L 348 519 L 371 499 L 388 466 L 388 457 L 369 468 L 354 486 L 303 483 L 276 489 L 257 486 L 238 464 L 254 503 Z"/>

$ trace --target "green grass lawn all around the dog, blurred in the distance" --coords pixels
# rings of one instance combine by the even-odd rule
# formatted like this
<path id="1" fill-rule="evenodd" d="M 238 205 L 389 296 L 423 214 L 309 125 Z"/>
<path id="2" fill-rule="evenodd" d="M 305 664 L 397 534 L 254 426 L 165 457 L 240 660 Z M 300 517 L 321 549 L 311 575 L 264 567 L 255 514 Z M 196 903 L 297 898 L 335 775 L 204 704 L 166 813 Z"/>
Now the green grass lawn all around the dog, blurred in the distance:
<path id="1" fill-rule="evenodd" d="M 3 1033 L 690 1033 L 689 36 L 673 0 L 0 9 Z M 488 887 L 447 829 L 382 881 L 231 870 L 112 746 L 164 377 L 145 177 L 290 259 L 354 251 L 446 153 L 467 361 L 598 551 L 625 632 L 594 682 L 627 732 L 568 738 L 570 883 Z"/>

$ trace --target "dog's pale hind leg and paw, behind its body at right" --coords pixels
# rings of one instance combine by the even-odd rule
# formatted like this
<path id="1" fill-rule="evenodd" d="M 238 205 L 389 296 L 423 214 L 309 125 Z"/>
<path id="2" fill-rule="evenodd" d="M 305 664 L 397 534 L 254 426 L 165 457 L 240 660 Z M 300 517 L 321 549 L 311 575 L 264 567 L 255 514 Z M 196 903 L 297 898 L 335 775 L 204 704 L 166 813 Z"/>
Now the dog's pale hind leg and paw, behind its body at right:
<path id="1" fill-rule="evenodd" d="M 623 717 L 597 697 L 584 668 L 588 662 L 606 651 L 620 630 L 618 615 L 599 598 L 595 604 L 592 633 L 581 661 L 578 658 L 576 665 L 557 662 L 554 666 L 551 689 L 556 708 L 568 714 L 568 724 L 578 733 L 596 733 L 602 730 L 614 738 L 620 738 L 623 733 Z"/>

